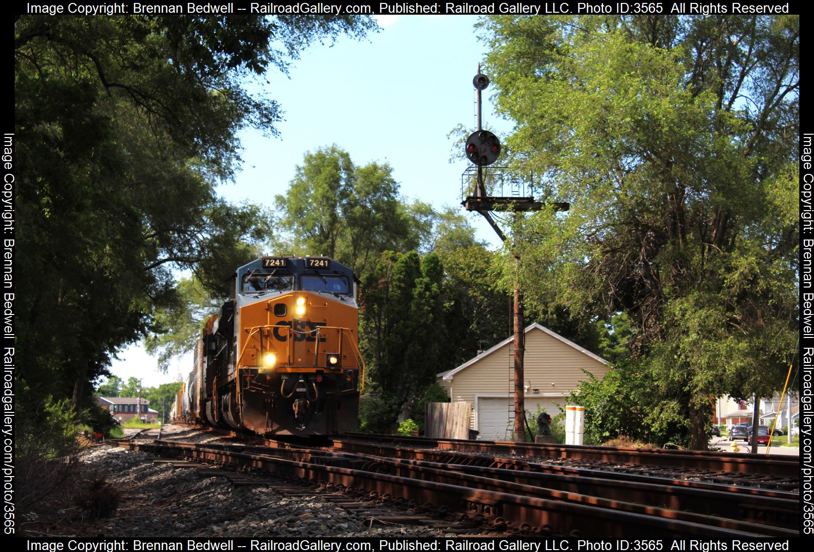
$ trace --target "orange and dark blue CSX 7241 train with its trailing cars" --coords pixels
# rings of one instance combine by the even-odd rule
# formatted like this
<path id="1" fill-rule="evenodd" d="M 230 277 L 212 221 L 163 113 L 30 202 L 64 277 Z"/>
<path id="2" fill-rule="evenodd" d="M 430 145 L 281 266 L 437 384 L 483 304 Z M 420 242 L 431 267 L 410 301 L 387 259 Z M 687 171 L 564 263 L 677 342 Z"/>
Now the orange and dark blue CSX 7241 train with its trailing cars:
<path id="1" fill-rule="evenodd" d="M 357 427 L 364 363 L 353 272 L 324 257 L 263 257 L 240 267 L 208 319 L 176 419 L 263 435 Z"/>

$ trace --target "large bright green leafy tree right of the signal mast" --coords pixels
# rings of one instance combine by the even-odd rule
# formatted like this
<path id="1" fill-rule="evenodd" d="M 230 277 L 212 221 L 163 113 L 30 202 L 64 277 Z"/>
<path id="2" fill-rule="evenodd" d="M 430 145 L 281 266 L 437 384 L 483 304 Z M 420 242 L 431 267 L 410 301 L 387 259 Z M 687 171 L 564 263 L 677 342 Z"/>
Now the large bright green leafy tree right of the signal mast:
<path id="1" fill-rule="evenodd" d="M 772 393 L 794 351 L 799 19 L 483 28 L 514 163 L 571 202 L 515 228 L 527 297 L 624 312 L 651 397 L 685 420 L 676 440 L 706 448 L 710 397 Z"/>

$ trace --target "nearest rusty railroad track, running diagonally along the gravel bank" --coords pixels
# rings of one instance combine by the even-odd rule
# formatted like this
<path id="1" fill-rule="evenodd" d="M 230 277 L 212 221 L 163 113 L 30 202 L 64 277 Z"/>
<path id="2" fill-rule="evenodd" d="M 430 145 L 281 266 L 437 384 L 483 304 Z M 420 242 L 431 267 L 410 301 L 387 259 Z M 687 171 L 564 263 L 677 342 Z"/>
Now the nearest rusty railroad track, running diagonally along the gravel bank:
<path id="1" fill-rule="evenodd" d="M 480 515 L 485 524 L 491 524 L 491 528 L 497 531 L 515 528 L 541 535 L 579 537 L 729 538 L 799 535 L 796 529 L 789 528 L 799 524 L 799 521 L 790 521 L 795 514 L 799 516 L 799 505 L 791 501 L 794 502 L 792 508 L 788 503 L 790 501 L 784 498 L 755 498 L 747 508 L 751 508 L 754 521 L 745 521 L 671 509 L 664 507 L 666 504 L 652 504 L 659 502 L 659 496 L 661 502 L 665 502 L 664 493 L 670 493 L 666 488 L 641 487 L 637 490 L 638 498 L 648 498 L 651 503 L 635 503 L 597 496 L 599 493 L 552 489 L 550 481 L 541 478 L 545 474 L 523 473 L 523 476 L 528 477 L 519 482 L 518 476 L 521 474 L 505 468 L 464 469 L 460 465 L 433 465 L 418 460 L 304 449 L 284 443 L 279 444 L 276 449 L 265 446 L 195 445 L 172 441 L 122 442 L 120 446 L 174 458 L 252 467 L 289 477 L 365 489 L 386 498 L 428 504 L 435 510 L 465 513 L 470 517 Z M 475 473 L 478 471 L 475 468 L 482 471 Z M 603 486 L 603 492 L 612 496 L 612 485 L 607 485 L 607 482 L 599 485 L 597 481 L 583 481 L 581 484 L 570 481 L 568 484 L 582 485 L 581 489 L 589 489 L 592 483 Z M 684 501 L 694 499 L 701 504 L 713 499 L 712 494 L 707 494 L 705 499 L 702 496 L 705 491 L 690 490 L 695 490 L 698 496 L 685 497 Z M 691 494 L 693 493 L 685 493 L 686 496 Z M 723 496 L 721 494 L 719 498 Z M 768 512 L 763 519 L 757 513 L 760 508 Z"/>

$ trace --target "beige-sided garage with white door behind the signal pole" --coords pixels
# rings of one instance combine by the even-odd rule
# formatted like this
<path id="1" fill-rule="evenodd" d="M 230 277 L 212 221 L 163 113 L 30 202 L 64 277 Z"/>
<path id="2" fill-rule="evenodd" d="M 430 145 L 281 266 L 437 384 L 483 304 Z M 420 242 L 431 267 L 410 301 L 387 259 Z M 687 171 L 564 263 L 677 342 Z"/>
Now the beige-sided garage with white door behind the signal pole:
<path id="1" fill-rule="evenodd" d="M 605 359 L 568 341 L 540 324 L 525 330 L 526 352 L 523 361 L 523 388 L 526 411 L 532 414 L 540 406 L 554 417 L 565 410 L 567 397 L 580 380 L 583 370 L 599 379 L 610 371 Z M 505 440 L 514 430 L 513 337 L 478 354 L 461 366 L 437 374 L 438 383 L 447 390 L 452 402 L 470 402 L 473 413 L 470 428 L 480 439 Z M 586 417 L 591 415 L 585 413 Z"/>

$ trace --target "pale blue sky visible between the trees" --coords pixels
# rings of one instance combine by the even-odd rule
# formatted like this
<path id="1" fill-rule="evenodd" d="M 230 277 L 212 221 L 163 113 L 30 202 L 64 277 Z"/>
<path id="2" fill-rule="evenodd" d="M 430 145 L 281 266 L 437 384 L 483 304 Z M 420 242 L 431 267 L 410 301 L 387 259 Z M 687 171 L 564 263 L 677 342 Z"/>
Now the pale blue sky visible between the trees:
<path id="1" fill-rule="evenodd" d="M 382 30 L 361 41 L 341 37 L 331 47 L 309 47 L 292 64 L 290 78 L 272 72 L 266 79 L 265 91 L 285 111 L 280 136 L 245 131 L 243 170 L 218 191 L 231 202 L 273 206 L 305 152 L 336 144 L 357 165 L 390 163 L 407 198 L 458 206 L 469 163 L 449 163 L 447 134 L 459 123 L 475 127 L 472 77 L 486 51 L 475 34 L 477 21 L 470 15 L 383 16 Z M 493 115 L 488 92 L 484 126 L 508 133 L 511 124 Z M 480 215 L 470 219 L 480 238 L 497 244 Z M 178 373 L 186 378 L 191 363 L 191 356 L 176 359 L 160 374 L 138 343 L 120 353 L 112 372 L 152 387 Z"/>

